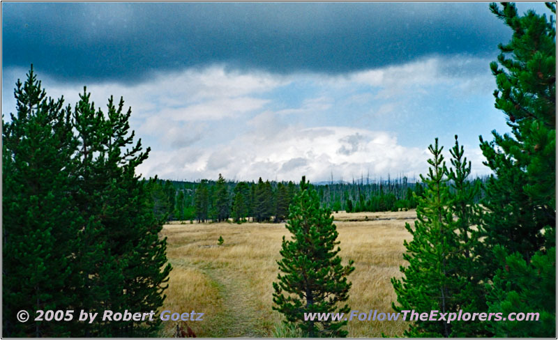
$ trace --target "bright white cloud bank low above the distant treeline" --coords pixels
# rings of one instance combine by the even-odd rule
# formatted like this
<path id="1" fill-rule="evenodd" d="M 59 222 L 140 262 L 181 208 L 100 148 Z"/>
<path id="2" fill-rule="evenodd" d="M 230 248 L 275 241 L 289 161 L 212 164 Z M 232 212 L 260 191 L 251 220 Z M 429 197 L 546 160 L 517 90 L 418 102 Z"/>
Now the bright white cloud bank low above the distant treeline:
<path id="1" fill-rule="evenodd" d="M 269 121 L 271 115 L 266 113 L 256 121 Z M 368 171 L 378 176 L 386 173 L 418 176 L 425 169 L 427 157 L 424 149 L 400 146 L 388 132 L 327 126 L 287 126 L 267 139 L 247 132 L 213 148 L 187 147 L 171 154 L 165 152 L 164 156 L 154 153 L 156 157 L 142 168 L 144 175 L 160 173 L 158 169 L 164 168 L 170 178 L 190 180 L 216 178 L 218 173 L 239 180 L 260 176 L 298 180 L 303 175 L 311 180 L 326 180 L 331 173 L 335 178 L 347 179 Z M 195 155 L 195 159 L 183 155 Z"/>

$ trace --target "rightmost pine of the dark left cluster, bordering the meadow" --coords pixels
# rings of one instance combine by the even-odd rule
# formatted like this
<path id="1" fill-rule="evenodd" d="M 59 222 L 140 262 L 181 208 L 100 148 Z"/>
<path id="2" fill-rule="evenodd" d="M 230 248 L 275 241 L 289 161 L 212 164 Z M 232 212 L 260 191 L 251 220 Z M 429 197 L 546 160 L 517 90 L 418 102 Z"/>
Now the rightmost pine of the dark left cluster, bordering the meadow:
<path id="1" fill-rule="evenodd" d="M 166 238 L 159 238 L 164 221 L 153 215 L 149 191 L 135 174 L 137 166 L 149 156 L 150 148 L 143 150 L 141 140 L 134 141 L 135 133 L 130 132 L 128 123 L 131 109 L 123 111 L 123 104 L 121 98 L 116 107 L 111 97 L 107 105 L 110 128 L 105 160 L 111 171 L 104 223 L 109 233 L 110 253 L 116 258 L 115 268 L 121 271 L 117 274 L 123 279 L 122 287 L 114 290 L 110 303 L 123 295 L 120 309 L 151 311 L 163 305 L 171 266 L 165 255 Z M 167 183 L 167 193 L 172 196 L 169 206 L 174 208 L 174 186 L 170 181 Z M 158 329 L 160 322 L 113 323 L 112 335 L 147 336 Z"/>

